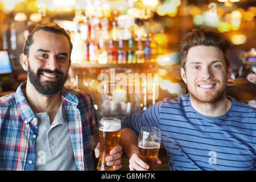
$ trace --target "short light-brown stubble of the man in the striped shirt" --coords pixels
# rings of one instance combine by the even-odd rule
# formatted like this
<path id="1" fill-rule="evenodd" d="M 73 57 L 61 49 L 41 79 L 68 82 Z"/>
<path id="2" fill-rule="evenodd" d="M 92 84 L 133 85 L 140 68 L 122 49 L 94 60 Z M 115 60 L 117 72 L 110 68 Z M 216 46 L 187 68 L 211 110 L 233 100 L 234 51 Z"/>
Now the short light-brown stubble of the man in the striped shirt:
<path id="1" fill-rule="evenodd" d="M 220 84 L 220 81 L 213 81 L 216 83 L 215 86 Z M 199 104 L 217 104 L 218 102 L 222 101 L 225 99 L 225 89 L 226 89 L 226 81 L 222 83 L 220 88 L 217 88 L 217 90 L 210 90 L 210 91 L 201 91 L 204 92 L 203 94 L 200 94 L 200 91 L 197 90 L 197 83 L 194 85 L 194 88 L 188 84 L 187 85 L 189 95 L 193 100 L 195 100 Z"/>

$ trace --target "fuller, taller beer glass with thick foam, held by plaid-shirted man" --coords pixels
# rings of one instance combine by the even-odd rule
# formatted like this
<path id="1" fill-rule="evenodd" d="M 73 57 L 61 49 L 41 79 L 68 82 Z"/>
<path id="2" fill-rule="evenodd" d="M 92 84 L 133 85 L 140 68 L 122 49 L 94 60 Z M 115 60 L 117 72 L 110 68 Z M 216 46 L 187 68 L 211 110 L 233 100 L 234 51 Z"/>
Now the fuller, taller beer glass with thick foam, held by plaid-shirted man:
<path id="1" fill-rule="evenodd" d="M 121 135 L 121 120 L 117 118 L 102 118 L 100 126 L 100 158 L 98 159 L 98 171 L 113 171 L 112 166 L 106 165 L 106 156 L 118 146 Z"/>

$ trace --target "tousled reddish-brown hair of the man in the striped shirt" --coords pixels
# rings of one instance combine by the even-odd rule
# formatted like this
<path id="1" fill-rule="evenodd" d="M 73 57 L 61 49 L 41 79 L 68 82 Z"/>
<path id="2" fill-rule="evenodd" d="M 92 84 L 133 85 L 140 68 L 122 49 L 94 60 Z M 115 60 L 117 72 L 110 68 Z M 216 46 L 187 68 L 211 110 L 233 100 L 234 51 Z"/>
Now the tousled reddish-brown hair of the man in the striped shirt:
<path id="1" fill-rule="evenodd" d="M 194 46 L 214 46 L 221 49 L 226 63 L 226 70 L 230 65 L 228 48 L 230 42 L 224 35 L 213 28 L 195 28 L 188 32 L 180 42 L 181 68 L 185 70 L 188 51 Z"/>

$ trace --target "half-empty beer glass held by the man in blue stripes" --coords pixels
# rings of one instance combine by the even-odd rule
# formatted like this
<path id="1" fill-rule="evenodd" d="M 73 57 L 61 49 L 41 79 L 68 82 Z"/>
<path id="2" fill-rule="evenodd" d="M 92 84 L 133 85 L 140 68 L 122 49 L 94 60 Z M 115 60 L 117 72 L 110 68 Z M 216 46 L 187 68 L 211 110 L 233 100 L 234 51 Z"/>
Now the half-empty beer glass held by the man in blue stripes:
<path id="1" fill-rule="evenodd" d="M 161 144 L 161 130 L 156 127 L 142 127 L 139 133 L 139 156 L 146 162 L 150 171 L 155 170 L 156 158 Z"/>

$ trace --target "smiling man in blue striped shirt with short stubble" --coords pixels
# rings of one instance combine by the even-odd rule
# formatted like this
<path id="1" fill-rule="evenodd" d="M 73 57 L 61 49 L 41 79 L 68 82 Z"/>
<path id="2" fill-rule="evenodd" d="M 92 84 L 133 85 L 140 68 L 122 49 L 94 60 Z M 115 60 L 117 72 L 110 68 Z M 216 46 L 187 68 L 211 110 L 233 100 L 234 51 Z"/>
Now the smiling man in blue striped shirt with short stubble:
<path id="1" fill-rule="evenodd" d="M 209 28 L 181 40 L 180 72 L 189 93 L 123 118 L 120 143 L 131 170 L 148 169 L 139 158 L 142 126 L 162 131 L 171 170 L 255 170 L 256 112 L 226 96 L 232 74 L 228 48 L 223 35 Z"/>

